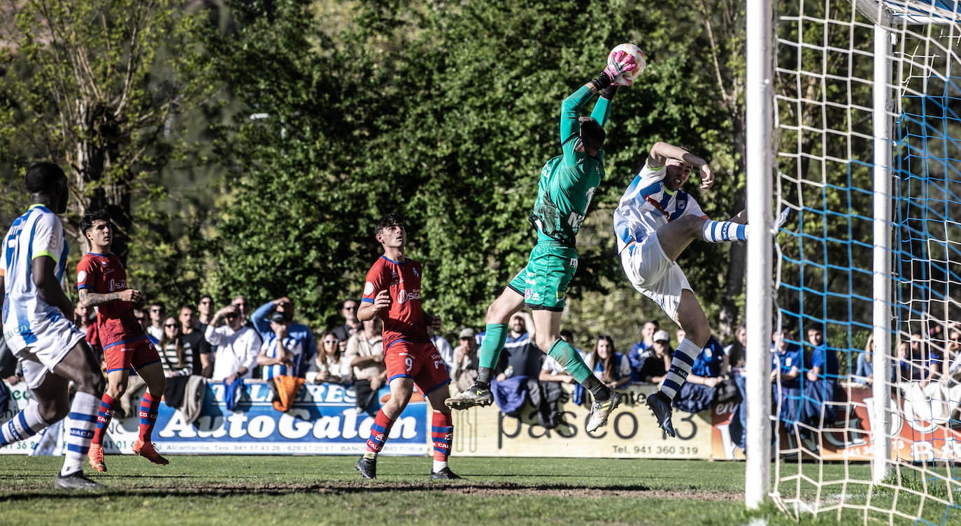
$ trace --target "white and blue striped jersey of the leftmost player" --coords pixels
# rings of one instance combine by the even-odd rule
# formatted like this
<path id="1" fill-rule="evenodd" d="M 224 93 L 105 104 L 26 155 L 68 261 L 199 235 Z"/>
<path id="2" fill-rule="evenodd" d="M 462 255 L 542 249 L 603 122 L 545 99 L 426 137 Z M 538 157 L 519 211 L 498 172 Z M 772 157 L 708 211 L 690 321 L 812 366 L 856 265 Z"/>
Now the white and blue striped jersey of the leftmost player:
<path id="1" fill-rule="evenodd" d="M 58 307 L 37 293 L 34 259 L 43 255 L 53 258 L 57 280 L 62 281 L 68 251 L 60 218 L 42 204 L 32 205 L 7 232 L 0 262 L 5 287 L 3 332 L 14 352 L 35 344 L 37 334 L 62 317 Z"/>

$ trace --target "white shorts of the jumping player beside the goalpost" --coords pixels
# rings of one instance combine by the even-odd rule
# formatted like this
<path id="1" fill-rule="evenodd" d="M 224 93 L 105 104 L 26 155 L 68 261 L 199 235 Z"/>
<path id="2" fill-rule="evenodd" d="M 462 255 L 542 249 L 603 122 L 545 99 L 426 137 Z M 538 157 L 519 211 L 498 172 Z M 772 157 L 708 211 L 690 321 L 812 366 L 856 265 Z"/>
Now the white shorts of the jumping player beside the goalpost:
<path id="1" fill-rule="evenodd" d="M 678 314 L 680 291 L 694 292 L 678 263 L 664 254 L 655 233 L 621 251 L 621 266 L 630 284 L 660 305 L 671 320 Z"/>

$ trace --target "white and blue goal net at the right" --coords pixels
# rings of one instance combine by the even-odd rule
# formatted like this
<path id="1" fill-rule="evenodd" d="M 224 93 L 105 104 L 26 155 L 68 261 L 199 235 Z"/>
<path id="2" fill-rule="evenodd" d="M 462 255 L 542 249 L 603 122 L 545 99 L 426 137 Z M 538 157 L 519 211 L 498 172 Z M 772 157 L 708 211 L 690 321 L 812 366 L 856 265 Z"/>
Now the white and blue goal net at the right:
<path id="1" fill-rule="evenodd" d="M 772 496 L 961 524 L 961 3 L 789 0 L 774 33 Z"/>

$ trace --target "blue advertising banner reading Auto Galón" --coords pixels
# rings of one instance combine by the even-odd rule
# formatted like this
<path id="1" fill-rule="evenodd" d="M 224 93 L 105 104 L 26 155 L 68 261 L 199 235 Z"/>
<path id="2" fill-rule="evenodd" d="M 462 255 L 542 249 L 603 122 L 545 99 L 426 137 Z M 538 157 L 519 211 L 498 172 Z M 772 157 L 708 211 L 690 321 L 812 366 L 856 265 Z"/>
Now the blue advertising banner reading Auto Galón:
<path id="1" fill-rule="evenodd" d="M 25 407 L 31 395 L 19 385 L 14 390 L 17 402 Z M 306 385 L 286 413 L 274 409 L 270 389 L 263 382 L 245 384 L 234 411 L 227 409 L 225 395 L 223 384 L 208 385 L 200 417 L 193 422 L 185 421 L 180 410 L 160 403 L 154 428 L 158 450 L 164 454 L 360 455 L 374 423 L 373 414 L 354 407 L 353 388 L 337 384 Z M 387 396 L 389 390 L 382 388 L 378 400 Z M 7 413 L 6 418 L 15 414 Z M 383 454 L 426 455 L 430 442 L 427 418 L 428 404 L 415 394 L 391 428 Z M 130 453 L 138 423 L 136 415 L 111 421 L 104 450 Z M 62 440 L 50 442 L 62 444 Z M 7 446 L 0 453 L 30 453 L 32 448 Z"/>

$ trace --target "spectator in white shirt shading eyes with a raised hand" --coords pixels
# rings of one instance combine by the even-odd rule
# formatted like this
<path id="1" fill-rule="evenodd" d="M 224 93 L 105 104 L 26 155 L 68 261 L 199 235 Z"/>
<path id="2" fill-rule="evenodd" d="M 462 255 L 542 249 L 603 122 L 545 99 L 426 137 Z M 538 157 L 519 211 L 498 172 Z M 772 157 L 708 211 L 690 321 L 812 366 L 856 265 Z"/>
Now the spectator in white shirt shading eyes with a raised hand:
<path id="1" fill-rule="evenodd" d="M 227 323 L 218 327 L 221 318 Z M 261 340 L 256 330 L 244 325 L 234 305 L 227 305 L 213 314 L 204 337 L 211 346 L 217 346 L 211 380 L 226 380 L 231 384 L 237 378 L 251 377 Z"/>

